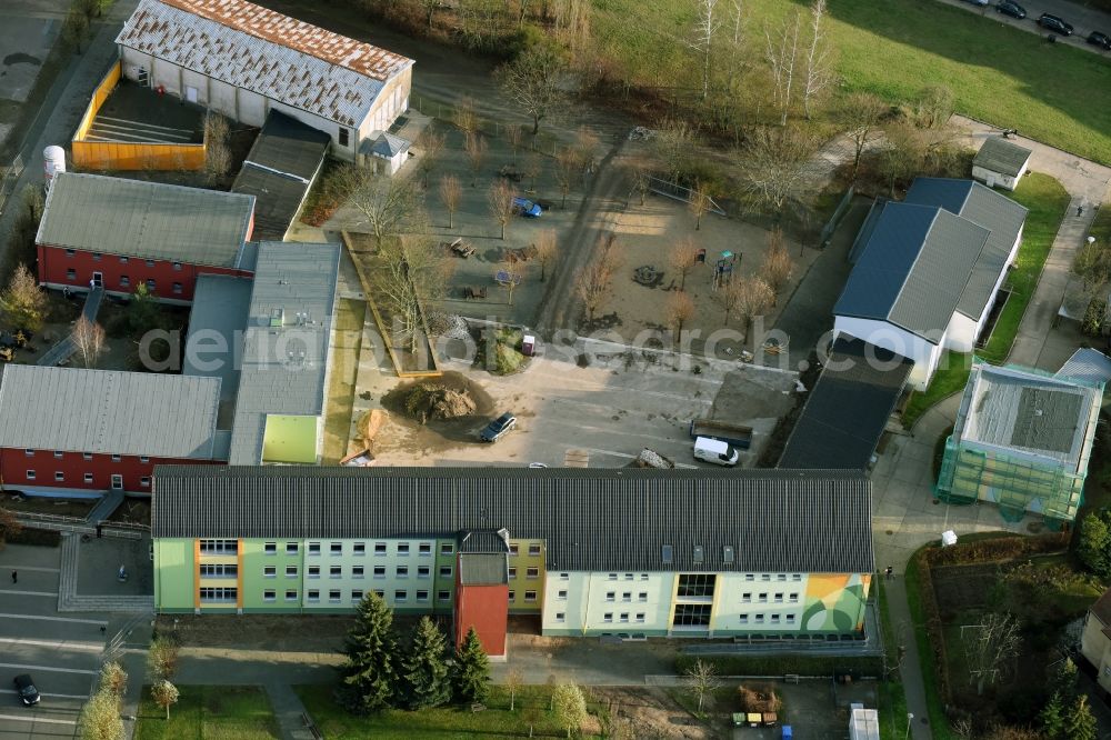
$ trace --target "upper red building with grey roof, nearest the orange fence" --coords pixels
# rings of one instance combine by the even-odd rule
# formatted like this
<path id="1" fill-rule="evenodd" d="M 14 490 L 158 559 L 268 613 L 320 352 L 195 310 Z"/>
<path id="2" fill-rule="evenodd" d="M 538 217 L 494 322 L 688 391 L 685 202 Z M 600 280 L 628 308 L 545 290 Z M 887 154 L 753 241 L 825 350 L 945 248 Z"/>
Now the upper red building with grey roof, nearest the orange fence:
<path id="1" fill-rule="evenodd" d="M 63 172 L 36 237 L 39 284 L 188 304 L 199 274 L 250 277 L 254 197 Z"/>

